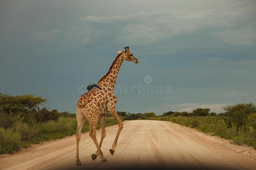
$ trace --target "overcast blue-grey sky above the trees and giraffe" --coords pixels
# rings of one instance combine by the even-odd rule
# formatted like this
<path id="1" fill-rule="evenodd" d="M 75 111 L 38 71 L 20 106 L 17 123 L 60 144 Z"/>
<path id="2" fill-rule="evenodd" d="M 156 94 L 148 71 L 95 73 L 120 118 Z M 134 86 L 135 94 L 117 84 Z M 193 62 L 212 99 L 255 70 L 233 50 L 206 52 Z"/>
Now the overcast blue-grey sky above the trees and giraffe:
<path id="1" fill-rule="evenodd" d="M 130 46 L 139 63 L 125 61 L 117 84 L 172 89 L 116 93 L 118 111 L 220 113 L 255 103 L 255 8 L 255 1 L 0 1 L 0 92 L 43 96 L 47 107 L 75 113 L 81 87 L 97 83 Z"/>

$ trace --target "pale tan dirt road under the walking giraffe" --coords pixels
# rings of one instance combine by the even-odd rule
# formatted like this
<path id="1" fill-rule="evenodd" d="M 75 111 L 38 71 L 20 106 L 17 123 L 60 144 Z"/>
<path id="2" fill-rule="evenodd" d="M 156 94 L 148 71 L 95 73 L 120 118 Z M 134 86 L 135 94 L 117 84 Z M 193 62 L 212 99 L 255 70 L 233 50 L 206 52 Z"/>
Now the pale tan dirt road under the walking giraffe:
<path id="1" fill-rule="evenodd" d="M 99 157 L 91 159 L 96 146 L 85 133 L 80 141 L 81 166 L 76 166 L 74 160 L 73 135 L 34 145 L 13 155 L 0 155 L 0 169 L 256 168 L 256 161 L 249 156 L 202 138 L 193 129 L 164 121 L 125 121 L 115 153 L 110 155 L 117 127 L 106 128 L 102 152 L 108 162 L 101 162 Z M 97 139 L 100 140 L 100 130 L 97 130 Z"/>

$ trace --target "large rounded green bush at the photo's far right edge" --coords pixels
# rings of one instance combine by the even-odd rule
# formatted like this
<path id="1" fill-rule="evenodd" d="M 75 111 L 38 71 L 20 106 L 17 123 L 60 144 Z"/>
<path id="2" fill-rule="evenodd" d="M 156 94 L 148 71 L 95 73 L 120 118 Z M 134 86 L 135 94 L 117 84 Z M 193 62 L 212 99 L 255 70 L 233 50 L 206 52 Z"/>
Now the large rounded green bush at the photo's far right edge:
<path id="1" fill-rule="evenodd" d="M 232 124 L 237 127 L 237 130 L 246 126 L 246 120 L 250 114 L 256 113 L 256 107 L 253 103 L 242 103 L 236 105 L 230 105 L 223 108 L 228 116 L 225 118 L 227 126 L 231 127 Z"/>

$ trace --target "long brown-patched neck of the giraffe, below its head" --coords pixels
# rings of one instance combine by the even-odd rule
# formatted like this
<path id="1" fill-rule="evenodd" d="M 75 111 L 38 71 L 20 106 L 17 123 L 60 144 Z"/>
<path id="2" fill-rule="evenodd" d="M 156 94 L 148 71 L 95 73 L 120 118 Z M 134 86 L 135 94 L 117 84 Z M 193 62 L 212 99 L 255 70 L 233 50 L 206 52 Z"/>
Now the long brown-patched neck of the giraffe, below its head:
<path id="1" fill-rule="evenodd" d="M 117 80 L 117 75 L 119 72 L 119 69 L 123 63 L 125 58 L 123 57 L 122 53 L 118 54 L 118 56 L 113 61 L 112 65 L 109 68 L 108 73 L 106 73 L 97 84 L 104 85 L 110 87 L 112 90 L 115 86 L 115 81 Z"/>

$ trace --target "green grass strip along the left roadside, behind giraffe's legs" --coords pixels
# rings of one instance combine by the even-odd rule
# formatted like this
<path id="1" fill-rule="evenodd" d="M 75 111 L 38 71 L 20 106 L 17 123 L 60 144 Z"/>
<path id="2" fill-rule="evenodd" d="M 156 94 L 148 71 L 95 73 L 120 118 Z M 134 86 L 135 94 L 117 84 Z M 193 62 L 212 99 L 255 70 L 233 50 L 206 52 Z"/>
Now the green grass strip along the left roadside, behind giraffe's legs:
<path id="1" fill-rule="evenodd" d="M 117 124 L 113 117 L 105 118 L 105 126 Z M 0 128 L 0 154 L 13 154 L 20 148 L 27 148 L 33 143 L 60 139 L 76 133 L 77 122 L 75 117 L 59 117 L 57 121 L 35 123 L 28 125 L 16 121 L 10 128 Z M 98 122 L 97 129 L 100 129 Z M 82 132 L 89 130 L 86 120 Z"/>

